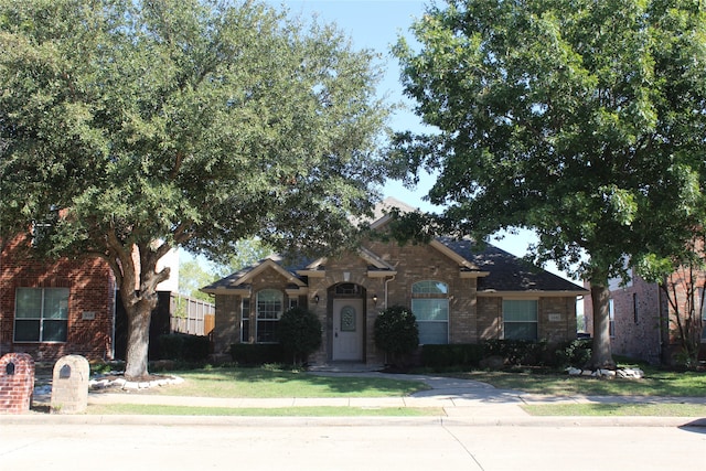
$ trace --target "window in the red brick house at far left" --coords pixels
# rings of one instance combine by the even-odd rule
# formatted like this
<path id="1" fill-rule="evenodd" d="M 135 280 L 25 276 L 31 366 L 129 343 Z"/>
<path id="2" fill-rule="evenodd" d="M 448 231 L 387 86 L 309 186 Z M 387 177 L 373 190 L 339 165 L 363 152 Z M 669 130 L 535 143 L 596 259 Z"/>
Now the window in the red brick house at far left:
<path id="1" fill-rule="evenodd" d="M 68 288 L 18 288 L 15 342 L 66 342 Z"/>

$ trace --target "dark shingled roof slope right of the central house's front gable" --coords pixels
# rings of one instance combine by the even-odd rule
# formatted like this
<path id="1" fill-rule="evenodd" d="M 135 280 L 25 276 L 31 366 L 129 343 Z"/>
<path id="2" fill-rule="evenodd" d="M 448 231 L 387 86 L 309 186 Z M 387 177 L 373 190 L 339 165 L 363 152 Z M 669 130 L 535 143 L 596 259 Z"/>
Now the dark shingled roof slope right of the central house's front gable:
<path id="1" fill-rule="evenodd" d="M 469 239 L 438 238 L 451 250 L 490 275 L 478 279 L 478 291 L 585 291 L 584 287 L 528 264 L 493 245 Z"/>

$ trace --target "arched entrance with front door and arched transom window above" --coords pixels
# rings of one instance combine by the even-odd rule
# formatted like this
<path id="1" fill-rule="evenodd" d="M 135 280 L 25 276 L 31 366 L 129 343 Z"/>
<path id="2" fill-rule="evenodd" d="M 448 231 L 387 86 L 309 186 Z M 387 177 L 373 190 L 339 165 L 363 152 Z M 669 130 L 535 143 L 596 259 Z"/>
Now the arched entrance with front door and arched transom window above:
<path id="1" fill-rule="evenodd" d="M 350 282 L 332 286 L 329 318 L 330 357 L 333 362 L 365 358 L 365 288 Z"/>

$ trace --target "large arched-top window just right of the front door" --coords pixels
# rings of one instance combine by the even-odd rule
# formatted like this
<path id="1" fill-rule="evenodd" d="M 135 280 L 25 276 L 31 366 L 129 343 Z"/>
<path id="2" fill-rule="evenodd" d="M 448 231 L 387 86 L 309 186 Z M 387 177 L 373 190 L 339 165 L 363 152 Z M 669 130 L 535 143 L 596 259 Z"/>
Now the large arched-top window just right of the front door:
<path id="1" fill-rule="evenodd" d="M 419 281 L 411 286 L 411 312 L 417 318 L 420 344 L 449 343 L 449 286 Z"/>

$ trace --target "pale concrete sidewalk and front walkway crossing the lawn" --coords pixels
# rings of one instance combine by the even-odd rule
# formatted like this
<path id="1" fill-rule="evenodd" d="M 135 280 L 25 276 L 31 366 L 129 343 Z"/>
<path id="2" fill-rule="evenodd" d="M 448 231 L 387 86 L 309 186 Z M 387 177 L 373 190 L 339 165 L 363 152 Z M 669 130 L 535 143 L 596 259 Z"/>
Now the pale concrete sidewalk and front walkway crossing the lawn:
<path id="1" fill-rule="evenodd" d="M 637 425 L 681 426 L 685 424 L 706 427 L 700 417 L 537 417 L 521 406 L 541 404 L 704 404 L 706 397 L 641 397 L 641 396 L 544 396 L 521 390 L 498 389 L 489 384 L 434 375 L 400 375 L 371 371 L 314 371 L 314 375 L 389 377 L 426 383 L 430 389 L 406 397 L 287 397 L 287 398 L 214 398 L 168 396 L 132 393 L 92 392 L 88 404 L 145 404 L 189 407 L 224 408 L 289 408 L 289 407 L 359 407 L 359 408 L 437 408 L 436 420 L 458 421 L 469 425 Z M 38 399 L 38 398 L 35 398 Z M 49 397 L 39 398 L 49 403 Z M 7 417 L 7 416 L 6 416 Z M 67 417 L 67 416 L 60 416 Z M 153 416 L 150 416 L 153 417 Z M 370 420 L 379 419 L 371 417 Z M 430 418 L 427 418 L 428 421 Z M 113 420 L 113 419 L 111 419 Z M 161 419 L 163 420 L 163 419 Z M 342 418 L 338 418 L 341 421 Z M 360 420 L 360 419 L 356 419 Z M 354 421 L 356 421 L 354 420 Z M 405 420 L 409 420 L 408 418 Z"/>

